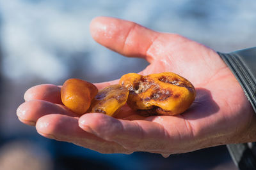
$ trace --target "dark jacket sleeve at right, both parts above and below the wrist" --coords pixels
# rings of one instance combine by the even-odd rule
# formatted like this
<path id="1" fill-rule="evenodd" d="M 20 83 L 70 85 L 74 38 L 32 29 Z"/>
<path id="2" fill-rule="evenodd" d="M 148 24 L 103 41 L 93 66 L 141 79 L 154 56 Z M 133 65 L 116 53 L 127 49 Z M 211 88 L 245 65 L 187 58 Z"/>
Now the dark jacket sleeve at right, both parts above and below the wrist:
<path id="1" fill-rule="evenodd" d="M 218 54 L 236 76 L 256 113 L 256 47 Z M 239 169 L 256 169 L 256 157 L 252 152 L 255 143 L 230 144 L 227 148 Z"/>

